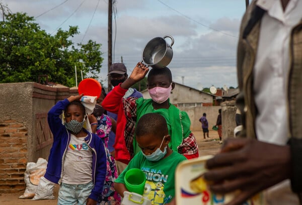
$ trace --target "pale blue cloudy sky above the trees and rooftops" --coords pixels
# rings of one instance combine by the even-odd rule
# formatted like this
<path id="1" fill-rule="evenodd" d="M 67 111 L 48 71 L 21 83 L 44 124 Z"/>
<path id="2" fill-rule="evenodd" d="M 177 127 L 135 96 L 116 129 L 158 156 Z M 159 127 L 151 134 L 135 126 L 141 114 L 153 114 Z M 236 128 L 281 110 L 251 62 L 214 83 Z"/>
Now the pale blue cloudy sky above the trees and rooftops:
<path id="1" fill-rule="evenodd" d="M 80 34 L 73 42 L 92 39 L 102 44 L 104 61 L 99 79 L 107 85 L 108 0 L 2 2 L 13 13 L 25 12 L 36 17 L 47 33 L 54 33 L 57 28 L 67 30 L 69 25 L 79 26 Z M 174 81 L 194 88 L 237 87 L 236 47 L 245 0 L 117 0 L 115 11 L 114 62 L 123 57 L 128 74 L 141 60 L 149 40 L 172 35 L 174 53 L 168 67 Z"/>

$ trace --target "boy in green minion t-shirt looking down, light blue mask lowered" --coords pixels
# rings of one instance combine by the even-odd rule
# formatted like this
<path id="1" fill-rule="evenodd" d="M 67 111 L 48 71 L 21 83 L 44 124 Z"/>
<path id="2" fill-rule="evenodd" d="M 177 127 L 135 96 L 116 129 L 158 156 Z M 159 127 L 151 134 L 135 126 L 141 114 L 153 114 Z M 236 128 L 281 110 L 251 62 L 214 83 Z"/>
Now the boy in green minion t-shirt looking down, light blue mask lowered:
<path id="1" fill-rule="evenodd" d="M 167 122 L 156 113 L 143 115 L 136 124 L 136 142 L 141 148 L 126 169 L 115 180 L 115 189 L 124 197 L 125 173 L 132 168 L 141 169 L 146 175 L 143 196 L 152 204 L 167 204 L 175 197 L 175 170 L 186 157 L 174 152 L 169 146 Z"/>

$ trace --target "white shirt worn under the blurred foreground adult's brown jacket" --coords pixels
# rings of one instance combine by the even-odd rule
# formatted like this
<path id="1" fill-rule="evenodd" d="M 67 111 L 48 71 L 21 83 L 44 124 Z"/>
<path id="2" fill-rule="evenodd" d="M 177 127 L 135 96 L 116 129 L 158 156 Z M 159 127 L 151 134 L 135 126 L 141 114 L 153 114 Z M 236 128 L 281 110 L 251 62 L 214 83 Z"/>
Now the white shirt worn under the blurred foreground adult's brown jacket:
<path id="1" fill-rule="evenodd" d="M 287 77 L 291 29 L 302 18 L 302 1 L 290 0 L 283 11 L 280 0 L 259 0 L 266 10 L 261 22 L 259 47 L 254 67 L 257 138 L 285 145 L 288 140 Z M 299 204 L 285 180 L 265 192 L 266 204 Z"/>

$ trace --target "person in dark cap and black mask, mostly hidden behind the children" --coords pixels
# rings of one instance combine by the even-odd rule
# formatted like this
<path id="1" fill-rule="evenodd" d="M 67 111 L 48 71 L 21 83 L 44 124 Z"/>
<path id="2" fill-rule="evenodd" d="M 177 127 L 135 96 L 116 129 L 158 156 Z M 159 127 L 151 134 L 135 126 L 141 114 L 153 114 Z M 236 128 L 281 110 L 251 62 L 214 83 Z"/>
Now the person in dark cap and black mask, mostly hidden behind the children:
<path id="1" fill-rule="evenodd" d="M 119 83 L 124 82 L 128 78 L 126 66 L 123 63 L 113 63 L 109 67 L 108 77 L 109 77 L 110 83 L 114 87 L 117 86 Z M 142 97 L 142 94 L 139 91 L 137 91 L 135 88 L 130 87 L 127 90 L 127 92 L 125 93 L 125 95 L 123 96 L 123 98 L 128 98 L 128 97 L 139 98 L 139 97 Z M 113 118 L 115 121 L 120 122 L 117 120 L 117 118 L 118 118 L 117 114 L 107 111 L 107 115 L 109 117 Z M 115 157 L 115 150 L 113 147 L 114 143 L 115 143 L 115 133 L 111 131 L 109 133 L 108 149 L 111 152 L 113 157 Z M 119 160 L 116 160 L 116 168 L 117 168 L 118 174 L 120 174 L 126 166 L 127 166 L 127 164 L 125 164 Z"/>

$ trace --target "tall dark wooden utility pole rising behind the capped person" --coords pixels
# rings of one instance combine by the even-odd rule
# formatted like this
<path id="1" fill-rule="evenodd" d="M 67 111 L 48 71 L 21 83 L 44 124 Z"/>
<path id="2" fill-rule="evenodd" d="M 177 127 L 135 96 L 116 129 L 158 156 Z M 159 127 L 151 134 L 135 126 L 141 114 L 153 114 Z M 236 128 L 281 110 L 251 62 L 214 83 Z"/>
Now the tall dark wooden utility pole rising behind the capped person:
<path id="1" fill-rule="evenodd" d="M 110 65 L 112 64 L 112 1 L 108 1 L 108 73 Z M 112 84 L 108 77 L 108 91 L 112 90 Z"/>

